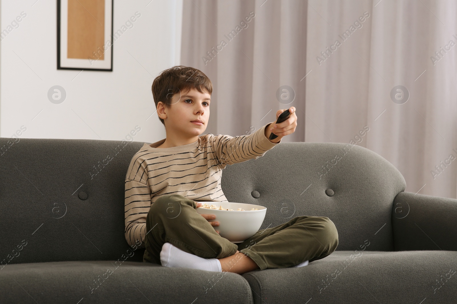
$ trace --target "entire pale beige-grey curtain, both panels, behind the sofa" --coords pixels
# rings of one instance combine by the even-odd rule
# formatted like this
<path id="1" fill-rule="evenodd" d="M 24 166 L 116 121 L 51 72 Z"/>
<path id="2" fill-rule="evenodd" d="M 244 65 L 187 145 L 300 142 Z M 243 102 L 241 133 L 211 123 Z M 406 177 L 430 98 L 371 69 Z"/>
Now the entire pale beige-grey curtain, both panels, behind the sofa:
<path id="1" fill-rule="evenodd" d="M 205 132 L 249 134 L 294 106 L 284 141 L 352 140 L 395 165 L 406 191 L 457 197 L 456 1 L 183 5 L 181 64 L 214 84 Z"/>

